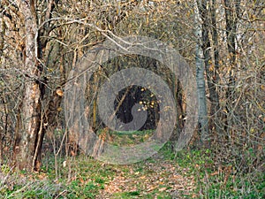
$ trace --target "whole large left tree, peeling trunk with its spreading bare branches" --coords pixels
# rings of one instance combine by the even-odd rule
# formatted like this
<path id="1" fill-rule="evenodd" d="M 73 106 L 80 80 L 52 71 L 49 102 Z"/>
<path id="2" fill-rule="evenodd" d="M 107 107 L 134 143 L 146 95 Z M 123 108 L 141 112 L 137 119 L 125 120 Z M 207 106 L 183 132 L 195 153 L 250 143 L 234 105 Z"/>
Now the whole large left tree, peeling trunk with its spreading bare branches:
<path id="1" fill-rule="evenodd" d="M 28 171 L 33 169 L 38 170 L 41 164 L 44 134 L 57 125 L 55 122 L 57 110 L 63 96 L 61 87 L 64 84 L 64 72 L 66 69 L 66 66 L 63 65 L 64 55 L 60 54 L 61 52 L 59 50 L 61 45 L 57 45 L 58 42 L 50 42 L 52 41 L 51 34 L 55 34 L 55 29 L 57 30 L 58 36 L 62 34 L 62 25 L 59 24 L 60 21 L 58 21 L 60 18 L 54 18 L 53 16 L 53 11 L 57 4 L 59 4 L 59 1 L 49 0 L 43 4 L 39 1 L 33 0 L 19 1 L 17 4 L 11 4 L 6 1 L 5 4 L 8 4 L 12 8 L 11 15 L 4 12 L 5 15 L 10 18 L 11 23 L 14 23 L 15 20 L 17 20 L 15 23 L 17 23 L 19 29 L 21 29 L 22 35 L 17 35 L 18 38 L 20 36 L 25 38 L 23 43 L 19 44 L 23 51 L 21 57 L 24 60 L 25 83 L 23 86 L 25 92 L 17 116 L 18 119 L 14 143 L 15 150 L 13 151 L 14 158 L 20 169 Z M 72 4 L 78 9 L 74 3 Z M 93 4 L 91 2 L 88 4 L 90 7 L 87 9 L 90 10 L 93 6 L 100 6 L 101 4 L 102 3 Z M 87 25 L 86 23 L 82 24 L 81 20 L 75 20 L 74 18 L 68 21 L 64 21 L 64 18 L 62 18 L 62 21 L 70 26 L 75 26 L 75 24 L 81 23 L 84 27 L 93 27 L 103 32 L 109 27 L 116 26 L 119 20 L 125 17 L 127 14 L 126 11 L 132 10 L 137 4 L 138 2 L 134 0 L 130 1 L 129 4 L 125 4 L 125 12 L 119 11 L 119 15 L 115 18 L 111 18 L 110 15 L 107 14 L 100 15 L 104 17 L 101 27 L 96 27 L 89 23 L 87 23 Z M 111 7 L 112 6 L 110 5 L 106 11 L 110 11 L 109 8 Z M 57 11 L 60 10 L 57 9 Z M 71 9 L 67 11 L 70 11 L 69 15 L 72 15 Z M 84 12 L 82 12 L 81 15 L 83 15 Z M 104 13 L 104 11 L 102 13 Z M 19 24 L 18 20 L 22 24 Z M 91 36 L 91 34 L 87 35 Z M 81 37 L 81 40 L 83 40 L 87 35 L 75 34 L 73 37 Z M 78 49 L 81 49 L 79 46 L 77 47 Z M 72 51 L 73 57 L 71 61 L 72 65 L 75 65 L 75 61 L 78 57 L 82 56 L 82 52 L 81 50 Z M 59 57 L 59 60 L 57 57 Z M 50 60 L 53 60 L 54 63 Z M 60 63 L 60 82 L 59 85 L 55 84 L 57 86 L 50 92 L 46 89 L 49 88 L 47 82 L 49 73 L 47 72 L 49 72 L 49 69 L 51 69 L 51 71 L 53 70 L 52 65 L 55 63 Z"/>

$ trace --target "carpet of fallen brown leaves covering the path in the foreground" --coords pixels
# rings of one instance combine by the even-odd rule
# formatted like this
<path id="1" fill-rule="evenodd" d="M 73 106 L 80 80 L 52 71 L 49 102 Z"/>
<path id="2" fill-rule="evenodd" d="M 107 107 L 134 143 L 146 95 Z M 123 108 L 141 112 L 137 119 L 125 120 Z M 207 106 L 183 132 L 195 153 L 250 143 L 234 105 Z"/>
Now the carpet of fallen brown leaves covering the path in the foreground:
<path id="1" fill-rule="evenodd" d="M 104 198 L 112 198 L 112 195 L 124 192 L 140 192 L 140 197 L 145 195 L 163 194 L 173 195 L 176 190 L 190 195 L 194 191 L 193 176 L 188 176 L 188 169 L 178 167 L 176 163 L 159 160 L 155 163 L 146 163 L 143 167 L 126 165 L 121 170 L 130 172 L 117 172 L 117 176 L 111 180 L 102 190 Z"/>

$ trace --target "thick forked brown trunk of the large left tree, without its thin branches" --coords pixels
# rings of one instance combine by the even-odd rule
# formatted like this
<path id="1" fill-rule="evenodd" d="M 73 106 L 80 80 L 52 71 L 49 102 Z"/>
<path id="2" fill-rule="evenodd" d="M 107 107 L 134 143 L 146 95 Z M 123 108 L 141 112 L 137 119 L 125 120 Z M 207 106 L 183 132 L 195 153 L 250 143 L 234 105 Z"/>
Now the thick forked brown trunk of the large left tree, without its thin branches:
<path id="1" fill-rule="evenodd" d="M 44 17 L 38 16 L 37 2 L 33 0 L 19 1 L 18 12 L 25 29 L 25 70 L 27 73 L 25 94 L 21 103 L 21 113 L 18 121 L 14 157 L 20 169 L 38 169 L 43 131 L 42 99 L 45 93 L 45 80 L 42 78 L 44 64 L 42 57 L 45 53 L 47 36 L 51 31 L 49 19 L 57 1 L 49 0 L 46 4 Z M 44 23 L 42 27 L 42 23 Z M 23 28 L 22 26 L 20 28 Z"/>

